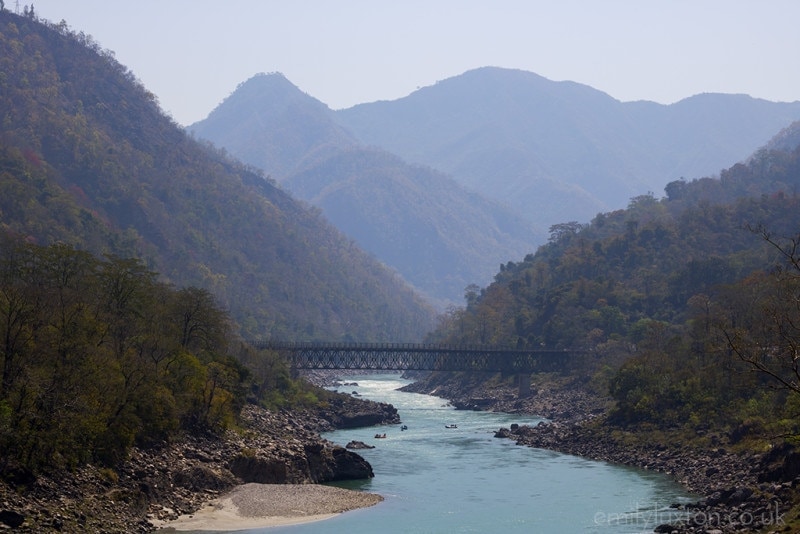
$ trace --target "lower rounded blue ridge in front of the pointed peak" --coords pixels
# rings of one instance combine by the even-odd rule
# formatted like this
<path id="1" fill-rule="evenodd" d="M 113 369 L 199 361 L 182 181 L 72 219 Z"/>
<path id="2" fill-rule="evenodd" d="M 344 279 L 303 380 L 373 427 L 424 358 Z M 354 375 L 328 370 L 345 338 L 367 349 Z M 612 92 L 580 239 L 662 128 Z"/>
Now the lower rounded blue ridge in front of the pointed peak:
<path id="1" fill-rule="evenodd" d="M 523 218 L 450 177 L 366 148 L 321 158 L 284 181 L 440 309 L 539 242 Z"/>

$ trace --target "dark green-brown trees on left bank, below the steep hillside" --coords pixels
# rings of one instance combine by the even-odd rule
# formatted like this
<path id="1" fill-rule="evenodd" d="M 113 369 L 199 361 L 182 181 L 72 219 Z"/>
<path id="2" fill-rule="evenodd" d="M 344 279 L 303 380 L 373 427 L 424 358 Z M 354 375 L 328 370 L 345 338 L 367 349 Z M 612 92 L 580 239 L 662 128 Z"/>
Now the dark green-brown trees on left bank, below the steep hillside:
<path id="1" fill-rule="evenodd" d="M 117 465 L 134 444 L 229 427 L 246 400 L 319 400 L 239 342 L 208 291 L 63 244 L 0 236 L 0 339 L 5 475 Z"/>

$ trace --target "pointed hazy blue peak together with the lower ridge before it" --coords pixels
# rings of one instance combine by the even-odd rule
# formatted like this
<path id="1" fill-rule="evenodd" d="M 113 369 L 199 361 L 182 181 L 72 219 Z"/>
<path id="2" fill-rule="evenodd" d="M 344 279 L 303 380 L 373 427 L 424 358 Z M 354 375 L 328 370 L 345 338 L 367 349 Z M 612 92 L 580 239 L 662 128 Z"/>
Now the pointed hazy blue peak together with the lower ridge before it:
<path id="1" fill-rule="evenodd" d="M 188 128 L 319 207 L 440 309 L 545 238 L 507 206 L 431 168 L 366 147 L 283 75 L 239 85 Z"/>

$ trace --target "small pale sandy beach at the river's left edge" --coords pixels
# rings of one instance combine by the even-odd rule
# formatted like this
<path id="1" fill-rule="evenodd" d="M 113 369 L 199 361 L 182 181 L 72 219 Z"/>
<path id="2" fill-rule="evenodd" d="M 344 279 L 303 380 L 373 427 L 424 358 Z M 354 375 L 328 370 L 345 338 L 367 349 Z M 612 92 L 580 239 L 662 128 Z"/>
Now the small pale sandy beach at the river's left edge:
<path id="1" fill-rule="evenodd" d="M 244 484 L 194 514 L 160 523 L 163 532 L 246 530 L 328 519 L 383 500 L 374 493 L 317 484 Z"/>

